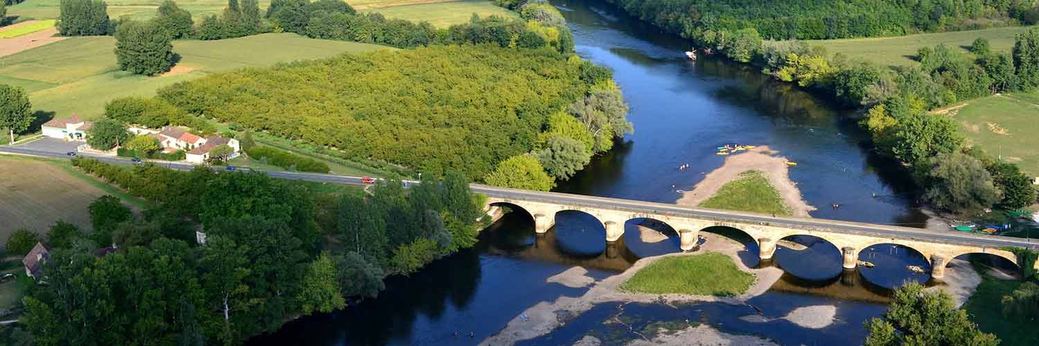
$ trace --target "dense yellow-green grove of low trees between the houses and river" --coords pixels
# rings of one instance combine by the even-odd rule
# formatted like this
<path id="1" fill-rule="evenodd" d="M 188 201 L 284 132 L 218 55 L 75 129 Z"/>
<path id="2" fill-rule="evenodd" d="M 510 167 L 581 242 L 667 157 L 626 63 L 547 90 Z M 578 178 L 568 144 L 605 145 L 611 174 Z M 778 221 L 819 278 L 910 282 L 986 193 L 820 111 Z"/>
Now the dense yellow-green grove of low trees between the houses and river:
<path id="1" fill-rule="evenodd" d="M 550 113 L 610 78 L 588 64 L 549 49 L 434 46 L 215 74 L 159 96 L 347 156 L 479 179 L 534 148 Z"/>

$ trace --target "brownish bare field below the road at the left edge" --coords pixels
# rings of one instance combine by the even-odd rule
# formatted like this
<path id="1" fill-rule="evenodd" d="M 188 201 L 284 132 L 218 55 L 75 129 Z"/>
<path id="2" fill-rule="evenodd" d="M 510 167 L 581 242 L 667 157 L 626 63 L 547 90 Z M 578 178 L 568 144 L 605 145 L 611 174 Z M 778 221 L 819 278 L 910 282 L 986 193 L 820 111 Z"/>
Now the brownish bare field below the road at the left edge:
<path id="1" fill-rule="evenodd" d="M 87 207 L 105 194 L 143 206 L 140 199 L 75 169 L 68 160 L 2 155 L 0 177 L 0 239 L 4 242 L 20 229 L 43 236 L 58 220 L 89 230 Z"/>

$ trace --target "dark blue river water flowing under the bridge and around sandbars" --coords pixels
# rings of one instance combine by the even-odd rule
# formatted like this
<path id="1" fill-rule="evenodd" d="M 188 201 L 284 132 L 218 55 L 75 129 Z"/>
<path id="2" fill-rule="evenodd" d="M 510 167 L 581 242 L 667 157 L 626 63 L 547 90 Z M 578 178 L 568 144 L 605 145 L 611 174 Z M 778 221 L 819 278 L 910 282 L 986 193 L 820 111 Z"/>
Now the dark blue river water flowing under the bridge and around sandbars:
<path id="1" fill-rule="evenodd" d="M 865 135 L 851 111 L 771 80 L 754 68 L 701 57 L 692 62 L 681 37 L 591 0 L 553 0 L 566 18 L 582 57 L 613 70 L 631 105 L 635 133 L 558 191 L 673 203 L 676 190 L 691 190 L 723 156 L 725 143 L 769 145 L 798 165 L 790 171 L 804 199 L 818 208 L 812 217 L 923 227 L 912 191 L 898 172 L 871 155 Z M 689 169 L 677 167 L 688 163 Z M 673 187 L 672 187 L 673 185 Z M 876 194 L 876 197 L 873 194 Z M 830 205 L 841 204 L 834 209 Z M 642 243 L 635 222 L 622 241 L 607 244 L 593 217 L 563 212 L 556 227 L 535 235 L 525 212 L 506 214 L 480 236 L 480 243 L 438 260 L 410 277 L 389 277 L 376 299 L 332 314 L 308 316 L 281 330 L 256 337 L 250 345 L 465 345 L 501 330 L 524 310 L 560 296 L 580 296 L 586 288 L 545 281 L 572 266 L 602 280 L 641 257 L 677 251 L 677 241 Z M 845 272 L 841 254 L 810 237 L 788 238 L 804 246 L 780 246 L 775 261 L 758 264 L 756 245 L 730 229 L 709 229 L 747 244 L 748 266 L 776 265 L 787 274 L 767 293 L 750 299 L 767 321 L 740 319 L 758 314 L 750 305 L 696 303 L 677 309 L 662 304 L 603 304 L 553 332 L 523 344 L 572 344 L 586 335 L 605 344 L 637 337 L 608 319 L 622 318 L 636 330 L 655 326 L 708 324 L 721 331 L 752 335 L 781 344 L 847 345 L 865 338 L 862 322 L 885 310 L 888 290 L 903 281 L 926 282 L 906 265 L 927 262 L 906 248 L 878 245 L 861 256 L 877 268 Z M 869 252 L 876 255 L 870 255 Z M 883 265 L 881 265 L 883 264 Z M 779 319 L 797 308 L 834 305 L 832 324 L 807 328 Z M 692 321 L 692 322 L 689 322 Z M 670 323 L 670 324 L 669 324 Z M 472 336 L 471 336 L 472 335 Z"/>

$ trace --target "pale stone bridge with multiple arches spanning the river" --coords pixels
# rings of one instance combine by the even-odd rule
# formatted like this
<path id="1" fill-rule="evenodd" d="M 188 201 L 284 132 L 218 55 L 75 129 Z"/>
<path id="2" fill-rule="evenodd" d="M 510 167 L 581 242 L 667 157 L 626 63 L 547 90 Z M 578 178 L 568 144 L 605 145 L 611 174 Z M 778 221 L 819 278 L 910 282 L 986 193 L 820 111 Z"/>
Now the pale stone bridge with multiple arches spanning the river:
<path id="1" fill-rule="evenodd" d="M 518 207 L 533 216 L 537 233 L 548 232 L 555 225 L 555 215 L 575 210 L 591 214 L 606 229 L 606 241 L 620 239 L 624 223 L 633 218 L 651 218 L 667 223 L 682 240 L 682 249 L 696 246 L 699 232 L 711 227 L 728 227 L 743 231 L 757 241 L 760 257 L 772 259 L 776 242 L 797 235 L 814 236 L 829 241 L 844 255 L 844 267 L 855 268 L 858 254 L 876 244 L 898 244 L 910 247 L 927 258 L 932 266 L 931 276 L 944 276 L 949 261 L 966 254 L 990 254 L 1018 264 L 1010 247 L 1037 249 L 1032 242 L 1001 236 L 965 234 L 959 232 L 929 232 L 922 229 L 847 222 L 828 219 L 772 217 L 756 213 L 689 208 L 684 206 L 586 196 L 558 192 L 539 192 L 520 189 L 473 185 L 473 191 L 487 196 L 486 207 L 502 204 Z M 1036 265 L 1039 268 L 1039 263 Z"/>

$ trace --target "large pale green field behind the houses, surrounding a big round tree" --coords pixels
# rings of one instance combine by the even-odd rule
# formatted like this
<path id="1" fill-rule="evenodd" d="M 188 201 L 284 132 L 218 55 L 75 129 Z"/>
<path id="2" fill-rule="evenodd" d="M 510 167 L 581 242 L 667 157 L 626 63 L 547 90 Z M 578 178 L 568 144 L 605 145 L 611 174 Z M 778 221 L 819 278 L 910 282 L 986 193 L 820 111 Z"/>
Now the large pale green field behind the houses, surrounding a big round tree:
<path id="1" fill-rule="evenodd" d="M 181 60 L 163 77 L 119 71 L 111 36 L 71 37 L 0 58 L 0 82 L 30 90 L 34 110 L 68 116 L 77 112 L 97 117 L 109 100 L 152 96 L 179 81 L 213 72 L 267 66 L 282 61 L 314 59 L 344 52 L 390 49 L 384 46 L 307 38 L 293 33 L 267 33 L 220 41 L 177 41 Z"/>

